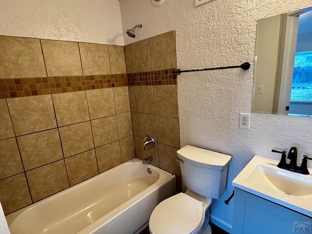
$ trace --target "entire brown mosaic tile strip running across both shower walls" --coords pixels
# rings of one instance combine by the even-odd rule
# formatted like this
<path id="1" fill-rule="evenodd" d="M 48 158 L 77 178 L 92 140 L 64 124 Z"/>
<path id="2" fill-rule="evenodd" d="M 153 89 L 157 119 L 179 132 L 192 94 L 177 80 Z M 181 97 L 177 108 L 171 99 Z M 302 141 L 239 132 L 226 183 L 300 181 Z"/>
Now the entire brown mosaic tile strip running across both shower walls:
<path id="1" fill-rule="evenodd" d="M 120 86 L 176 84 L 176 68 L 131 74 L 0 79 L 0 98 L 59 94 Z"/>

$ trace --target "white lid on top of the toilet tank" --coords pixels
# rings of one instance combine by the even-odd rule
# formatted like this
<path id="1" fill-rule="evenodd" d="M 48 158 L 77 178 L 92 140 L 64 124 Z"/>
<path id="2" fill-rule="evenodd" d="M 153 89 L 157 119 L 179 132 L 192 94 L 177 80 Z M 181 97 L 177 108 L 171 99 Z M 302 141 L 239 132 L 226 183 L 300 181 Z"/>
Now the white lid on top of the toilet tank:
<path id="1" fill-rule="evenodd" d="M 226 167 L 231 161 L 232 156 L 217 153 L 206 149 L 197 148 L 191 145 L 184 146 L 177 152 L 181 159 L 187 160 L 189 163 L 212 169 L 220 169 Z"/>

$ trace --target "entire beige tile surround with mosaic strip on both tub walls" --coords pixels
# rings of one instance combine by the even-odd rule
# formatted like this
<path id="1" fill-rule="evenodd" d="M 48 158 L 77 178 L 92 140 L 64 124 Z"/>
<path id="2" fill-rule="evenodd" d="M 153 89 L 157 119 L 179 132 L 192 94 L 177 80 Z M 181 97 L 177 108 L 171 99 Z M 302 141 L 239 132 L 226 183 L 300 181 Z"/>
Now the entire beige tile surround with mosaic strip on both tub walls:
<path id="1" fill-rule="evenodd" d="M 25 42 L 13 38 L 13 45 L 19 40 Z M 176 75 L 171 74 L 176 67 L 174 31 L 127 45 L 123 53 L 120 46 L 29 43 L 41 46 L 42 61 L 39 50 L 37 57 L 25 52 L 23 59 L 37 58 L 41 68 L 26 62 L 15 69 L 21 62 L 18 48 L 5 46 L 13 65 L 0 64 L 0 201 L 5 214 L 135 156 L 153 156 L 152 164 L 180 176 Z M 0 59 L 6 59 L 3 53 Z M 156 147 L 144 152 L 146 135 L 155 138 Z"/>

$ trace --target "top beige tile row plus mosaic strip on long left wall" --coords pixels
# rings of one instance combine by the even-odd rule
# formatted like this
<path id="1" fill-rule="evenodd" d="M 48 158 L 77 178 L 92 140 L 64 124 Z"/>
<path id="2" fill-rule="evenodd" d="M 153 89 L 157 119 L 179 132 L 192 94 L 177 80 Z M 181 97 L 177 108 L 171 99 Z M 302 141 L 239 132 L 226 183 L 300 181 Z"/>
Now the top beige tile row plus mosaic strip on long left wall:
<path id="1" fill-rule="evenodd" d="M 120 86 L 123 46 L 0 36 L 0 98 Z"/>

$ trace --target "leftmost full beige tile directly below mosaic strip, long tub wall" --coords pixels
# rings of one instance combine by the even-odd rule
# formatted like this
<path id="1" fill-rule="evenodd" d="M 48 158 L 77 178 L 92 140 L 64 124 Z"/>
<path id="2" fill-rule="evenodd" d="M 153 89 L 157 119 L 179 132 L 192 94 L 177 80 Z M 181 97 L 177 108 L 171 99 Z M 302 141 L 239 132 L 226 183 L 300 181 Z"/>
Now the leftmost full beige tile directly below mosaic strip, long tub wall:
<path id="1" fill-rule="evenodd" d="M 57 127 L 51 95 L 7 99 L 16 136 Z"/>

